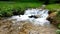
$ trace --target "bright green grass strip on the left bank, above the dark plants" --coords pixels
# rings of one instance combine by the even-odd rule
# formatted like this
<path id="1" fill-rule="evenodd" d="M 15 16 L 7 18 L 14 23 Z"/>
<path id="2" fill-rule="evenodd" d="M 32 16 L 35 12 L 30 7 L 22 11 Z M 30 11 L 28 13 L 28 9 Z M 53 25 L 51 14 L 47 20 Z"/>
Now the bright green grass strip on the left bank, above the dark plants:
<path id="1" fill-rule="evenodd" d="M 12 9 L 12 8 L 26 8 L 26 7 L 39 7 L 41 3 L 30 3 L 30 2 L 0 2 L 0 8 L 2 9 Z"/>

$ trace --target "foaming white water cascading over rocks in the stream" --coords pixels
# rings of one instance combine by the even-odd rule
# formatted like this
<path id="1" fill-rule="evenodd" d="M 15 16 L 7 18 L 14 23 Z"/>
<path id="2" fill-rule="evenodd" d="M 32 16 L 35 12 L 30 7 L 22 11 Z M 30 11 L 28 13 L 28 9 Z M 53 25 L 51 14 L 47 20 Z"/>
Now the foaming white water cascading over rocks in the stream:
<path id="1" fill-rule="evenodd" d="M 38 16 L 38 18 L 34 17 L 29 17 L 29 16 Z M 30 21 L 33 24 L 36 25 L 50 25 L 50 22 L 47 19 L 48 17 L 48 10 L 42 10 L 42 9 L 28 9 L 25 10 L 24 15 L 17 15 L 17 16 L 12 16 L 11 19 L 16 19 L 16 21 Z"/>

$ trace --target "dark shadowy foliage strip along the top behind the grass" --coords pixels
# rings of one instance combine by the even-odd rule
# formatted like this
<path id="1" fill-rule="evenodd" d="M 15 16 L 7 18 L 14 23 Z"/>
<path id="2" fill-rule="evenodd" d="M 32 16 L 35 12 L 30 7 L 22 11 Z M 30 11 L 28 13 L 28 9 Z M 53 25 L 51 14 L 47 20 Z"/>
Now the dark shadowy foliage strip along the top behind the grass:
<path id="1" fill-rule="evenodd" d="M 15 1 L 15 2 L 44 2 L 49 3 L 60 3 L 60 0 L 0 0 L 0 1 Z"/>

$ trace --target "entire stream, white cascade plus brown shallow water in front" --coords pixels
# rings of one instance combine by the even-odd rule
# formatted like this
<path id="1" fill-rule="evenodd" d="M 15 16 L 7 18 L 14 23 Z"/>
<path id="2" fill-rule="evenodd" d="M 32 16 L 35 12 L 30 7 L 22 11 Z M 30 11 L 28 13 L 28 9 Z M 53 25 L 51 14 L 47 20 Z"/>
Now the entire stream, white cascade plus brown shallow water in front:
<path id="1" fill-rule="evenodd" d="M 38 18 L 29 17 L 31 15 L 37 15 Z M 0 20 L 0 34 L 56 34 L 57 28 L 46 20 L 48 16 L 48 10 L 28 9 L 24 15 Z"/>

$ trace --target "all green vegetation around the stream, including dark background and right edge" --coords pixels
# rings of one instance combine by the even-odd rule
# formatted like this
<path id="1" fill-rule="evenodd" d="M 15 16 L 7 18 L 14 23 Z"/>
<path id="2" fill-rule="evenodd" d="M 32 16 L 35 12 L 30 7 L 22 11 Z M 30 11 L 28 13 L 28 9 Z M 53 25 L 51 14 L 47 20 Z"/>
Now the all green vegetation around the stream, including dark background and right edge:
<path id="1" fill-rule="evenodd" d="M 60 9 L 60 4 L 57 4 L 60 3 L 60 0 L 17 0 L 19 2 L 10 1 L 12 0 L 0 1 L 0 17 L 10 17 L 12 15 L 24 14 L 24 11 L 26 9 L 38 8 L 43 4 L 48 4 L 46 8 L 52 11 Z M 56 22 L 58 23 L 57 27 L 60 29 L 60 10 L 57 12 L 58 14 L 56 17 L 54 17 L 54 20 L 56 20 Z M 57 30 L 56 32 L 57 34 L 60 34 L 60 30 Z"/>

